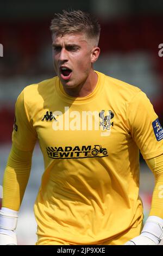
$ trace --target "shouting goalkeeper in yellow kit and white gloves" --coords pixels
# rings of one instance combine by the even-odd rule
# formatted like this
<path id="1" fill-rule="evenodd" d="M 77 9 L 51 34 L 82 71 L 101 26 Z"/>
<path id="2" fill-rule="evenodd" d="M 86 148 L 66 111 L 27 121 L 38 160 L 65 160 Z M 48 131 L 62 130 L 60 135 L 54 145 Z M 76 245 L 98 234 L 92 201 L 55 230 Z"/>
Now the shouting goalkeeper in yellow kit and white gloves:
<path id="1" fill-rule="evenodd" d="M 34 205 L 37 245 L 158 245 L 163 237 L 158 116 L 139 88 L 93 69 L 100 53 L 95 17 L 63 11 L 54 15 L 51 31 L 57 76 L 27 86 L 16 102 L 0 244 L 17 245 L 18 211 L 39 141 L 45 172 Z M 139 151 L 155 176 L 144 227 Z"/>

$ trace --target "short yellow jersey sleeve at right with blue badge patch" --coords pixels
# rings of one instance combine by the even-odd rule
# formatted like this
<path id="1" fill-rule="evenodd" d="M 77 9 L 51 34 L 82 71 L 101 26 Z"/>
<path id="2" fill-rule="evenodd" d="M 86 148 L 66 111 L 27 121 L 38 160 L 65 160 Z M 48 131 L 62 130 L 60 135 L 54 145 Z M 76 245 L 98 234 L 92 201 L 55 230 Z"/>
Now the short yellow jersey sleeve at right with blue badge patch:
<path id="1" fill-rule="evenodd" d="M 137 93 L 127 108 L 131 136 L 144 159 L 163 154 L 163 130 L 145 93 Z"/>

